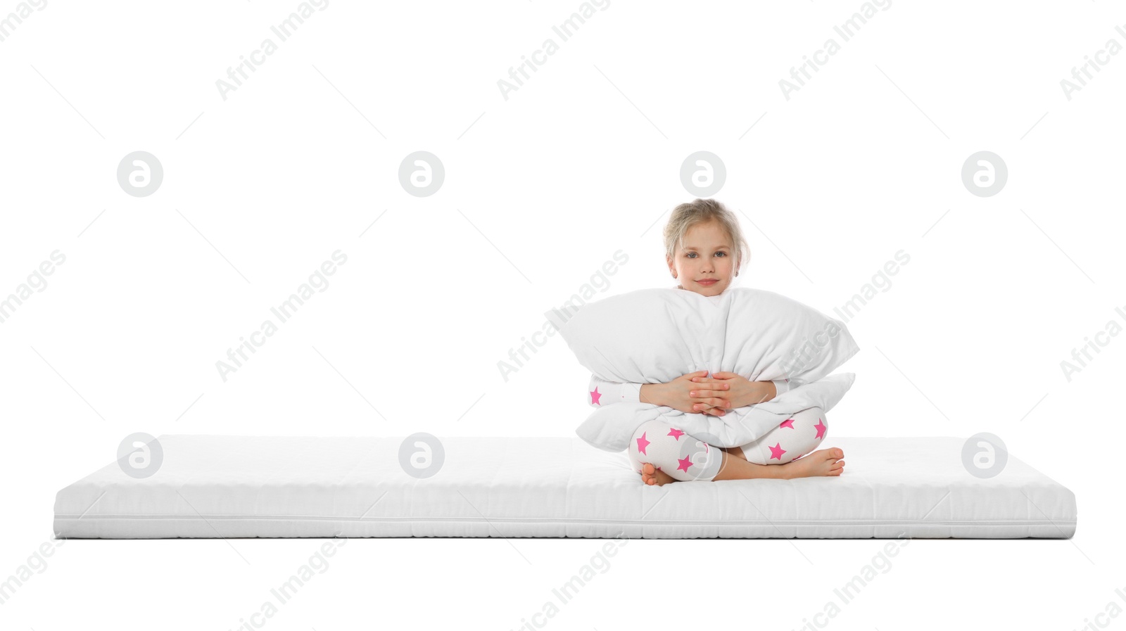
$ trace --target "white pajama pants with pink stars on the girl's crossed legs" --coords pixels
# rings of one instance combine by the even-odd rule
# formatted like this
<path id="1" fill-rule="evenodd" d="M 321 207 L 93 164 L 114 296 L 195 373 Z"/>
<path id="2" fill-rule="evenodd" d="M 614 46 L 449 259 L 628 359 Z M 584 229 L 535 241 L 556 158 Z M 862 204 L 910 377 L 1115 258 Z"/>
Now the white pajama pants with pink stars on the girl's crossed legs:
<path id="1" fill-rule="evenodd" d="M 811 407 L 741 448 L 748 462 L 785 465 L 816 449 L 828 430 L 825 413 L 820 407 Z M 720 448 L 711 447 L 661 420 L 649 421 L 637 427 L 626 454 L 637 472 L 641 472 L 643 463 L 649 462 L 681 481 L 709 481 L 720 472 L 723 462 Z"/>

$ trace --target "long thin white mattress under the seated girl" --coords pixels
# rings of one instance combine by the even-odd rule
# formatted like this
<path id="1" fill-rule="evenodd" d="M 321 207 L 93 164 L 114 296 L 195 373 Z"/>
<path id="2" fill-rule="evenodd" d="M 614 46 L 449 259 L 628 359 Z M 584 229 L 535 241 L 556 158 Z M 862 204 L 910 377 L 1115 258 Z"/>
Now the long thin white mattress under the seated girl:
<path id="1" fill-rule="evenodd" d="M 839 478 L 645 486 L 569 438 L 447 438 L 408 476 L 401 438 L 159 436 L 152 477 L 117 462 L 55 501 L 60 538 L 1070 538 L 1075 496 L 1009 454 L 971 476 L 963 439 L 841 438 Z M 825 447 L 829 444 L 826 443 Z"/>

